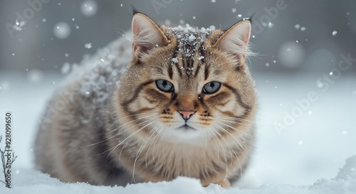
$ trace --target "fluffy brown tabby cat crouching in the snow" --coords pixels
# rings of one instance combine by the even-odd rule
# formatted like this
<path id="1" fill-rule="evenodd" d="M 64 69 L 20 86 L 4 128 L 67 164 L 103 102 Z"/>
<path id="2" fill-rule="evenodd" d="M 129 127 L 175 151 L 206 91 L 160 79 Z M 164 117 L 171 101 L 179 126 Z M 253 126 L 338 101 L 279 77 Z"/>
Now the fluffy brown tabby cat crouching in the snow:
<path id="1" fill-rule="evenodd" d="M 255 144 L 250 34 L 249 18 L 171 28 L 134 11 L 132 38 L 86 56 L 48 102 L 36 168 L 93 185 L 187 176 L 229 188 Z"/>

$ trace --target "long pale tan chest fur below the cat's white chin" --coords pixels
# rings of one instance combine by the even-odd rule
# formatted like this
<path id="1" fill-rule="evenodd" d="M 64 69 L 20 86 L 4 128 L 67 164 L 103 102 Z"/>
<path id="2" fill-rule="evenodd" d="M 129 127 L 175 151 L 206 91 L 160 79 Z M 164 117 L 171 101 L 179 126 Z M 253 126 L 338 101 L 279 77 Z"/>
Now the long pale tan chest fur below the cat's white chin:
<path id="1" fill-rule="evenodd" d="M 232 161 L 230 154 L 214 146 L 192 146 L 182 144 L 156 143 L 147 147 L 140 159 L 140 165 L 147 171 L 165 178 L 177 176 L 209 177 L 226 171 L 226 165 Z"/>

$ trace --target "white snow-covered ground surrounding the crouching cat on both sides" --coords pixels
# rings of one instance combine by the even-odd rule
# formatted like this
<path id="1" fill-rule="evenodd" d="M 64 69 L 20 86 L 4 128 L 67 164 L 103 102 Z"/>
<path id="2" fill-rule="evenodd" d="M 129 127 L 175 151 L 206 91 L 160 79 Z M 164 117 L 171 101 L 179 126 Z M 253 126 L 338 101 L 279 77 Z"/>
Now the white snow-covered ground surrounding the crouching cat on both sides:
<path id="1" fill-rule="evenodd" d="M 38 118 L 63 75 L 0 72 L 0 113 L 13 113 L 14 151 L 19 156 L 13 166 L 14 190 L 6 190 L 6 193 L 27 193 L 28 190 L 38 190 L 38 193 L 68 193 L 69 190 L 72 193 L 355 192 L 355 157 L 354 162 L 345 167 L 346 172 L 353 173 L 350 174 L 353 179 L 335 176 L 345 165 L 345 160 L 356 155 L 356 77 L 344 72 L 323 92 L 323 87 L 315 84 L 323 73 L 328 74 L 253 73 L 260 99 L 258 144 L 251 168 L 244 179 L 234 185 L 239 188 L 223 190 L 217 185 L 202 188 L 197 180 L 189 178 L 126 188 L 68 184 L 34 171 L 31 148 Z M 315 92 L 318 99 L 310 102 L 301 116 L 294 117 L 294 122 L 283 122 L 286 113 L 295 114 L 298 112 L 293 113 L 293 109 L 301 109 L 295 99 L 308 99 L 309 92 Z M 4 120 L 4 116 L 0 117 L 0 126 L 4 126 Z M 276 122 L 288 129 L 277 130 Z M 4 128 L 0 129 L 0 134 L 4 135 Z M 1 185 L 0 190 L 4 190 Z"/>

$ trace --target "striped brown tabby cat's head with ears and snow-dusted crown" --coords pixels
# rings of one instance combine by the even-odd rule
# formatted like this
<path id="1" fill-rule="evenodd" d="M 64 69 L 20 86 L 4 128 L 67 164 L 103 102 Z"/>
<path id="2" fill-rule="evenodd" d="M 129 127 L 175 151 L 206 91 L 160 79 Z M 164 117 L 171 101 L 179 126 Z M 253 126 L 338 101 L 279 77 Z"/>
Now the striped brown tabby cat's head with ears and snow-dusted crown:
<path id="1" fill-rule="evenodd" d="M 244 134 L 256 109 L 245 63 L 250 31 L 249 19 L 221 31 L 159 27 L 136 13 L 132 63 L 116 93 L 120 124 L 167 141 Z"/>

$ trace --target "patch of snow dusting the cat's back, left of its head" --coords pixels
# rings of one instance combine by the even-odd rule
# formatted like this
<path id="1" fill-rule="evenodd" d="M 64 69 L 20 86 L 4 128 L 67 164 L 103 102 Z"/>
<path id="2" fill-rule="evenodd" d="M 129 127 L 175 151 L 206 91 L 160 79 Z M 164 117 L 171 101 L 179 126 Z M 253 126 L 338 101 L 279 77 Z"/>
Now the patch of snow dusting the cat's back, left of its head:
<path id="1" fill-rule="evenodd" d="M 130 36 L 125 36 L 130 37 Z M 91 43 L 88 43 L 91 46 Z M 119 77 L 125 71 L 126 64 L 129 63 L 132 53 L 130 41 L 125 38 L 120 38 L 117 41 L 109 43 L 106 48 L 98 50 L 93 55 L 85 55 L 83 61 L 80 63 L 81 68 L 74 68 L 73 71 L 66 77 L 63 84 L 66 82 L 76 82 L 80 80 L 79 92 L 83 97 L 88 98 L 88 94 L 95 94 L 93 98 L 93 106 L 86 107 L 88 114 L 93 112 L 93 108 L 103 105 L 108 97 L 110 97 L 112 87 L 119 80 Z M 117 52 L 117 50 L 123 50 Z M 122 58 L 117 58 L 117 55 Z"/>

